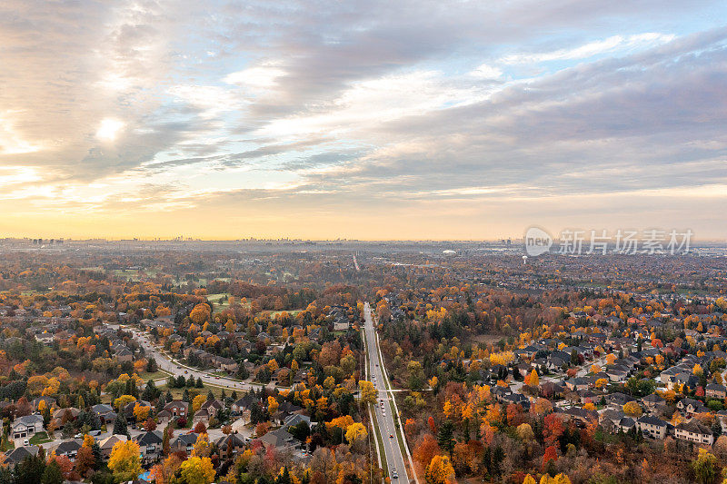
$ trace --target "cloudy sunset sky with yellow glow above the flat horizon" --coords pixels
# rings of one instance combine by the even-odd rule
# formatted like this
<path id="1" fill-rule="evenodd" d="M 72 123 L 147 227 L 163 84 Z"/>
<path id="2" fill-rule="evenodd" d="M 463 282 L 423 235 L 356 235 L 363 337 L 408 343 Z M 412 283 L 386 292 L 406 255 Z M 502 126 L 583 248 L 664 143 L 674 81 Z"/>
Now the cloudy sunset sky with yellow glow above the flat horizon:
<path id="1" fill-rule="evenodd" d="M 727 224 L 727 4 L 0 3 L 0 236 Z"/>

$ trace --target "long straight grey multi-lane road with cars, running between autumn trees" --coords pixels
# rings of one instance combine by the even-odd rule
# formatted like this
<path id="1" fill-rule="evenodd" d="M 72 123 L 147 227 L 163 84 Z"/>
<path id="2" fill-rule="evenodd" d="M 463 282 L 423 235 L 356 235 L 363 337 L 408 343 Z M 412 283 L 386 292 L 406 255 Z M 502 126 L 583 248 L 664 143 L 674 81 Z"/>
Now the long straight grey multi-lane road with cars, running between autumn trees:
<path id="1" fill-rule="evenodd" d="M 393 405 L 391 399 L 393 393 L 386 391 L 384 376 L 379 361 L 379 346 L 376 339 L 376 331 L 373 329 L 371 318 L 371 307 L 369 303 L 364 304 L 364 338 L 368 349 L 368 372 L 373 386 L 378 390 L 378 401 L 375 405 L 376 421 L 379 424 L 379 433 L 383 441 L 383 456 L 386 460 L 386 467 L 389 470 L 389 477 L 393 482 L 409 482 L 404 465 L 402 449 L 397 439 L 396 426 L 393 423 Z M 381 402 L 383 401 L 383 405 Z M 403 439 L 403 435 L 401 436 Z"/>

